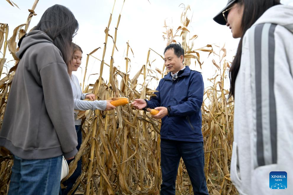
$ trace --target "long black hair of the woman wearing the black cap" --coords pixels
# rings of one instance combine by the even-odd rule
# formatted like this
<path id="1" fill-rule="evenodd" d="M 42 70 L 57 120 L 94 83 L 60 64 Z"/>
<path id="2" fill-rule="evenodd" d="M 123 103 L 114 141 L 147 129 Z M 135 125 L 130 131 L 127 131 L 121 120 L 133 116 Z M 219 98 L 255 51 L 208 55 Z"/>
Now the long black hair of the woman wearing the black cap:
<path id="1" fill-rule="evenodd" d="M 242 53 L 242 40 L 245 32 L 260 18 L 263 13 L 272 6 L 281 4 L 280 0 L 239 0 L 237 4 L 243 5 L 243 17 L 242 17 L 242 36 L 239 41 L 236 56 L 232 62 L 230 69 L 230 93 L 234 97 L 235 80 L 240 68 L 241 53 Z"/>

